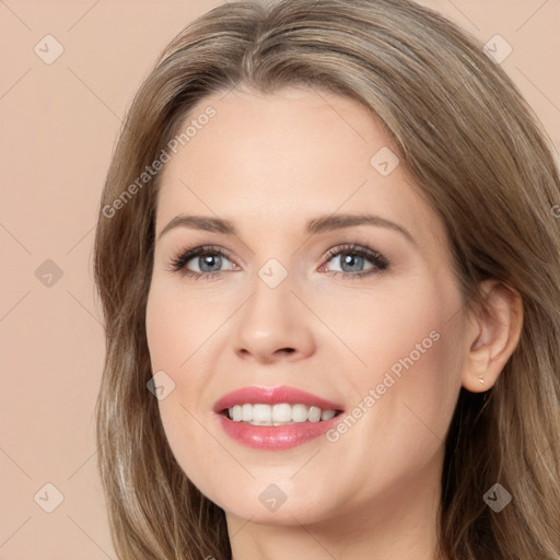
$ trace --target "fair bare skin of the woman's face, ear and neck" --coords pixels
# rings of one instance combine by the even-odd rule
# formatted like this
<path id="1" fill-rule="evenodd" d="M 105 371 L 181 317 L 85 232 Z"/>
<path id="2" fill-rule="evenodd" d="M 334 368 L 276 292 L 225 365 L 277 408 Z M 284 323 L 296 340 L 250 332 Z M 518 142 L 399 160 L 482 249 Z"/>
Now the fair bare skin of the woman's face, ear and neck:
<path id="1" fill-rule="evenodd" d="M 158 201 L 147 334 L 153 372 L 175 383 L 159 400 L 171 448 L 225 511 L 235 560 L 372 551 L 433 559 L 443 441 L 458 393 L 495 382 L 518 339 L 520 300 L 487 281 L 492 312 L 467 313 L 441 219 L 402 164 L 387 176 L 372 166 L 392 143 L 354 101 L 306 89 L 236 90 L 202 100 L 190 118 L 209 105 L 215 117 L 165 165 Z M 413 242 L 372 225 L 305 233 L 307 220 L 335 212 L 383 217 Z M 158 238 L 180 213 L 231 220 L 237 235 L 179 226 Z M 343 254 L 327 259 L 328 249 L 351 243 L 389 267 L 334 275 L 349 269 Z M 187 245 L 228 252 L 221 276 L 171 271 Z M 288 271 L 273 289 L 258 276 L 270 258 Z M 200 266 L 197 257 L 188 264 Z M 350 273 L 375 265 L 360 266 Z M 438 341 L 336 442 L 255 450 L 230 439 L 212 411 L 236 388 L 290 385 L 349 413 L 432 331 Z M 270 483 L 287 498 L 276 511 L 259 501 Z"/>

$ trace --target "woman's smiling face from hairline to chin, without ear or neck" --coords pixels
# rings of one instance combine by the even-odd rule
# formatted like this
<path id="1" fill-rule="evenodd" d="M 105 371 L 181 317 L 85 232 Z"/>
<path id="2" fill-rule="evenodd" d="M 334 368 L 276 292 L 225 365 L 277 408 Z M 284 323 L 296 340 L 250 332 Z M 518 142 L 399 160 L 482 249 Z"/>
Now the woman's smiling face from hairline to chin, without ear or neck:
<path id="1" fill-rule="evenodd" d="M 443 224 L 388 137 L 355 102 L 291 88 L 215 94 L 190 120 L 162 172 L 147 310 L 182 468 L 256 523 L 433 495 L 468 322 Z"/>

